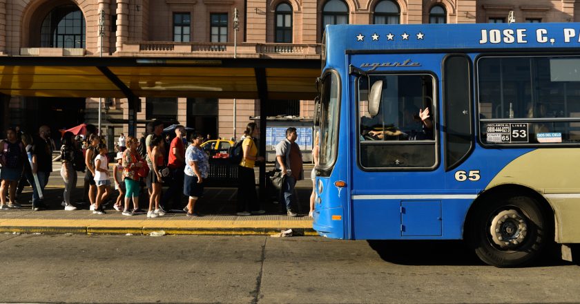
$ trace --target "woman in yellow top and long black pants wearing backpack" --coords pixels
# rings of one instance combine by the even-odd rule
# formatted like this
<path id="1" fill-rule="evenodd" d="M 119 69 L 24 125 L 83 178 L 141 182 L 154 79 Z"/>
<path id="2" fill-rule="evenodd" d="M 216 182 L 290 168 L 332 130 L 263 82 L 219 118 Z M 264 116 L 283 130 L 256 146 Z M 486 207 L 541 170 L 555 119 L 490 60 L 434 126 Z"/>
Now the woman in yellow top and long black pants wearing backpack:
<path id="1" fill-rule="evenodd" d="M 258 156 L 258 146 L 254 142 L 254 138 L 258 135 L 260 135 L 260 129 L 255 122 L 250 122 L 244 131 L 242 161 L 238 166 L 238 216 L 266 213 L 260 209 L 260 202 L 255 193 L 254 164 L 256 161 L 264 160 L 263 156 Z"/>

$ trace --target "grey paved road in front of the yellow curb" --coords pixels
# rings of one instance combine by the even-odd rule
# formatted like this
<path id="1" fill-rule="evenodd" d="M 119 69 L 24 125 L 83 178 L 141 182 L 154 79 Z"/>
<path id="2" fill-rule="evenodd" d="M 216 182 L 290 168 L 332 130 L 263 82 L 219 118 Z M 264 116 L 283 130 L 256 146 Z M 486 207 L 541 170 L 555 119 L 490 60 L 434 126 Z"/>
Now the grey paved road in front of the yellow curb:
<path id="1" fill-rule="evenodd" d="M 580 302 L 580 267 L 481 265 L 461 243 L 0 235 L 0 302 Z"/>

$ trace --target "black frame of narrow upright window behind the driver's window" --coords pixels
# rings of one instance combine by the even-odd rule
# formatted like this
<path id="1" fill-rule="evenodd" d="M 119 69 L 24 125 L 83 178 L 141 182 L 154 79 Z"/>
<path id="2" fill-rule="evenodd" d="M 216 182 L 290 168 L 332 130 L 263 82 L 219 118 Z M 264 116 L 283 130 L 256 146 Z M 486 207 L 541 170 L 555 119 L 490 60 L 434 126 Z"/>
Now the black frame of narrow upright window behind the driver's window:
<path id="1" fill-rule="evenodd" d="M 449 109 L 447 108 L 447 99 L 446 99 L 446 90 L 445 90 L 445 84 L 442 84 L 442 90 L 441 90 L 441 121 L 442 121 L 442 125 L 444 126 L 443 129 L 443 135 L 441 138 L 441 142 L 442 144 L 444 144 L 444 149 L 443 149 L 443 153 L 445 153 L 445 155 L 443 155 L 443 165 L 445 167 L 445 171 L 449 172 L 452 171 L 453 169 L 459 167 L 461 164 L 463 164 L 463 162 L 465 162 L 465 160 L 467 160 L 467 158 L 470 157 L 470 155 L 473 153 L 473 151 L 475 150 L 475 138 L 474 136 L 476 135 L 475 132 L 477 130 L 479 130 L 478 128 L 476 128 L 476 120 L 473 119 L 473 113 L 474 113 L 474 73 L 475 73 L 475 69 L 474 69 L 474 61 L 472 60 L 472 58 L 467 55 L 466 53 L 449 53 L 447 55 L 445 55 L 445 57 L 443 57 L 443 60 L 441 61 L 441 79 L 443 82 L 446 81 L 445 79 L 445 64 L 447 63 L 447 59 L 450 59 L 451 57 L 465 57 L 465 59 L 467 59 L 467 64 L 468 64 L 468 68 L 469 68 L 469 73 L 467 75 L 467 77 L 469 77 L 467 79 L 467 83 L 469 84 L 469 108 L 467 109 L 467 111 L 469 111 L 469 113 L 467 115 L 469 115 L 469 119 L 470 119 L 470 149 L 467 151 L 467 153 L 465 153 L 465 155 L 463 155 L 461 158 L 459 158 L 454 164 L 447 164 L 447 152 L 449 149 L 449 144 L 447 142 L 447 111 L 449 111 Z M 479 112 L 479 106 L 476 107 L 477 111 Z M 479 113 L 478 113 L 479 115 Z"/>

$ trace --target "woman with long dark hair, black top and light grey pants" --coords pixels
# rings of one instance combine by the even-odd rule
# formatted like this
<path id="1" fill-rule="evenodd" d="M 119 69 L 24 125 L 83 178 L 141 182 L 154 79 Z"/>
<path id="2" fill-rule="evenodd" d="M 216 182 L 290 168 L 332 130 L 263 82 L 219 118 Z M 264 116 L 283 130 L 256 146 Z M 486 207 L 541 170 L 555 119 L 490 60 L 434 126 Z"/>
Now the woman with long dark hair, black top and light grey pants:
<path id="1" fill-rule="evenodd" d="M 77 158 L 77 149 L 75 138 L 72 132 L 65 132 L 61 138 L 61 177 L 64 180 L 64 193 L 62 200 L 66 211 L 77 210 L 70 202 L 70 193 L 77 186 L 77 171 L 75 170 L 75 158 Z"/>

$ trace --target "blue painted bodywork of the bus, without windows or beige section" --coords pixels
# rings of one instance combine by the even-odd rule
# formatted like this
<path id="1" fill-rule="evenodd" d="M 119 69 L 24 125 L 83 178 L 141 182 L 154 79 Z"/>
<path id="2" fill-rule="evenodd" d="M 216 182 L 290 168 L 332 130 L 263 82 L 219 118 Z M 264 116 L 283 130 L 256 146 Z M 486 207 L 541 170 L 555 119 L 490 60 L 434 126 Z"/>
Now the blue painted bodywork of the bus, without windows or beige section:
<path id="1" fill-rule="evenodd" d="M 461 53 L 474 66 L 481 53 L 495 50 L 566 50 L 579 46 L 579 35 L 577 23 L 327 26 L 323 74 L 335 70 L 340 75 L 338 153 L 329 176 L 317 177 L 319 200 L 313 228 L 322 236 L 341 239 L 463 238 L 463 224 L 472 202 L 501 169 L 533 148 L 486 149 L 476 140 L 479 126 L 473 123 L 471 153 L 458 167 L 445 171 L 443 59 Z M 421 66 L 410 66 L 412 63 Z M 434 169 L 365 171 L 360 167 L 356 149 L 357 75 L 349 74 L 349 66 L 368 73 L 413 72 L 434 77 L 438 149 Z M 474 79 L 471 80 L 476 87 Z M 475 92 L 472 94 L 475 96 Z M 477 121 L 476 106 L 472 102 L 472 122 Z M 480 171 L 481 179 L 475 182 L 456 179 L 458 170 L 474 169 Z M 336 187 L 334 183 L 338 180 L 345 182 L 346 187 Z"/>

